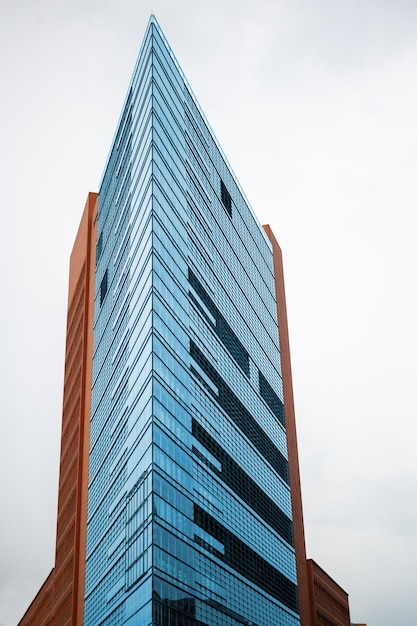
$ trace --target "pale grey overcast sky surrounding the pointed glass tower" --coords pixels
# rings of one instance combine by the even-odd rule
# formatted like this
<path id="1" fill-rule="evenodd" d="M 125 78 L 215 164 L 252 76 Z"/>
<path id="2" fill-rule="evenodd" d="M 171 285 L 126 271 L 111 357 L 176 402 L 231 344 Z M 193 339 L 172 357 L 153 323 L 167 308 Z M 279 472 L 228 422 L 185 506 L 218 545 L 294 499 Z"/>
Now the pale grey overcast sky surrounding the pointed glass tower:
<path id="1" fill-rule="evenodd" d="M 414 0 L 0 0 L 0 626 L 53 566 L 68 260 L 151 12 L 283 249 L 308 556 L 415 626 Z"/>

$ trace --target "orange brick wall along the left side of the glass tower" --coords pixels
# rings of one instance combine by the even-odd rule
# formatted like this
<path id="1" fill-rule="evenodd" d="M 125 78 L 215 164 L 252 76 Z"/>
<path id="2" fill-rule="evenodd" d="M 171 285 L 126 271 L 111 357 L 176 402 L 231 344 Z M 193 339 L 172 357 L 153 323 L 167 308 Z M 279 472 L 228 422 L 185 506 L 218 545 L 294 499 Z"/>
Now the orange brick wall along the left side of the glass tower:
<path id="1" fill-rule="evenodd" d="M 55 568 L 19 626 L 83 623 L 97 194 L 70 259 Z"/>

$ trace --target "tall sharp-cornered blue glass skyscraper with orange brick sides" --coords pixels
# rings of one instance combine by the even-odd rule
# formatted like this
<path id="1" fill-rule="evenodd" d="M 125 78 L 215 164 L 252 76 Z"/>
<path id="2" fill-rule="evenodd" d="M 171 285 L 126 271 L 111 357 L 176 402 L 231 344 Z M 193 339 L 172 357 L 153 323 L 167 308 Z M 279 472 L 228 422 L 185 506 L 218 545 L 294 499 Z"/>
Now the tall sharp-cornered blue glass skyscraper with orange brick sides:
<path id="1" fill-rule="evenodd" d="M 300 622 L 281 252 L 151 18 L 71 258 L 56 563 L 21 624 Z"/>

